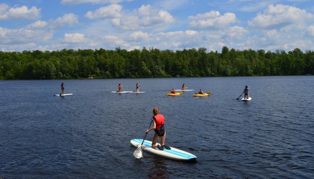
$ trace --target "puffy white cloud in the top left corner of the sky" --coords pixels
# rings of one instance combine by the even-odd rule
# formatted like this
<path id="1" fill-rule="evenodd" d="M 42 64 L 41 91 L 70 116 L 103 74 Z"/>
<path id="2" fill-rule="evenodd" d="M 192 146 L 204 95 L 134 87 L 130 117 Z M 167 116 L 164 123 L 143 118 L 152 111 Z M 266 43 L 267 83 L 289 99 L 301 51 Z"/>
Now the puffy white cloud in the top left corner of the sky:
<path id="1" fill-rule="evenodd" d="M 41 9 L 33 6 L 18 8 L 9 8 L 7 4 L 0 4 L 0 20 L 34 20 L 41 18 Z"/>

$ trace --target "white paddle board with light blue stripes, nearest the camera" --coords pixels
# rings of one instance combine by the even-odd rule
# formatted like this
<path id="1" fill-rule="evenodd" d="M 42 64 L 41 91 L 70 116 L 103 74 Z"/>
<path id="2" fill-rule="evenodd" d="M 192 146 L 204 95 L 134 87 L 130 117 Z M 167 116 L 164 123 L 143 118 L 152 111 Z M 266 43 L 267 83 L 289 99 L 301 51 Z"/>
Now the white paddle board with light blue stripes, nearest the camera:
<path id="1" fill-rule="evenodd" d="M 141 146 L 142 142 L 143 142 L 142 139 L 133 139 L 133 140 L 131 140 L 131 145 L 135 148 L 138 148 Z M 158 143 L 156 145 L 158 145 Z M 171 147 L 171 150 L 153 149 L 152 148 L 152 141 L 149 141 L 149 140 L 144 140 L 142 150 L 146 151 L 148 153 L 158 155 L 161 157 L 165 157 L 168 159 L 172 159 L 172 160 L 179 160 L 179 161 L 196 160 L 195 155 L 188 153 L 186 151 L 183 151 L 183 150 L 176 149 L 174 147 Z"/>

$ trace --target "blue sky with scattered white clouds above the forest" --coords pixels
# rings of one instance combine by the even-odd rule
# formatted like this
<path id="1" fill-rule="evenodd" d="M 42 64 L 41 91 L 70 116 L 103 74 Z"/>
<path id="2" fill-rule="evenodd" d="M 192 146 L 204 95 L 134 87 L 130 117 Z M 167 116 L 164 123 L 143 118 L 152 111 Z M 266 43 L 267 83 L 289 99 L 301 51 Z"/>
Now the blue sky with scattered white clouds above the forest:
<path id="1" fill-rule="evenodd" d="M 314 50 L 313 0 L 3 0 L 0 51 Z"/>

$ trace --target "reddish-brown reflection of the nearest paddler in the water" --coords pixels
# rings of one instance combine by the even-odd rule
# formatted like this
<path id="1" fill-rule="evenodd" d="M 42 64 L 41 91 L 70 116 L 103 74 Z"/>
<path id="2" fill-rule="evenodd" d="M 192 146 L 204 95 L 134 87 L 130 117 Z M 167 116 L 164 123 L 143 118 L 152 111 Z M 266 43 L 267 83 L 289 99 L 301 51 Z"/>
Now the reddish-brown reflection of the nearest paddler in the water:
<path id="1" fill-rule="evenodd" d="M 168 168 L 163 159 L 158 156 L 154 156 L 153 159 L 154 165 L 149 169 L 147 177 L 149 179 L 167 179 L 169 175 L 167 173 Z"/>

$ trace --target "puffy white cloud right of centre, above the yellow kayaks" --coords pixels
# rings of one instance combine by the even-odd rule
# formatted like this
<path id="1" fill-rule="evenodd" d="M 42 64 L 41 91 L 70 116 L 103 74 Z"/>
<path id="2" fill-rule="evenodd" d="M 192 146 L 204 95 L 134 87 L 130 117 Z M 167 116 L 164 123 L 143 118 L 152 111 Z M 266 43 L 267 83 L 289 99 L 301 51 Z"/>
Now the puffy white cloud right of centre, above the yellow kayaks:
<path id="1" fill-rule="evenodd" d="M 188 19 L 191 20 L 189 27 L 192 29 L 224 29 L 236 22 L 236 14 L 225 13 L 220 15 L 219 11 L 210 11 L 196 16 L 189 16 Z"/>

